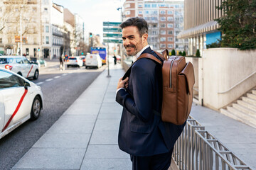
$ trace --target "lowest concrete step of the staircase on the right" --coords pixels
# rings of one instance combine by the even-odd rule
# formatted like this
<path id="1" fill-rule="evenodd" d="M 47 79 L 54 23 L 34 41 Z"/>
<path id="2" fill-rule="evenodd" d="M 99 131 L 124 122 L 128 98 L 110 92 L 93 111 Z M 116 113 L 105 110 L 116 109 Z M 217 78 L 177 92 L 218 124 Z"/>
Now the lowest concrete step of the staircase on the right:
<path id="1" fill-rule="evenodd" d="M 253 127 L 256 127 L 256 118 L 247 115 L 246 113 L 243 113 L 241 111 L 238 111 L 238 109 L 231 106 L 228 106 L 227 110 L 237 118 L 236 120 L 240 120 L 242 123 L 246 123 L 247 125 L 250 124 L 253 125 Z"/>

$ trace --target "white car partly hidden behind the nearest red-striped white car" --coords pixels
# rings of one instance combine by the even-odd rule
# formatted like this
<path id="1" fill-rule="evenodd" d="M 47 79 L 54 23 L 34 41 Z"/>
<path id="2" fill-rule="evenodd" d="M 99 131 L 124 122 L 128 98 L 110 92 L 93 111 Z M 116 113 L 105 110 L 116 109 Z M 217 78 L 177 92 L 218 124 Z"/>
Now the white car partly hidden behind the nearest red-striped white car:
<path id="1" fill-rule="evenodd" d="M 38 79 L 38 65 L 23 56 L 0 56 L 0 68 L 9 69 L 25 78 Z"/>

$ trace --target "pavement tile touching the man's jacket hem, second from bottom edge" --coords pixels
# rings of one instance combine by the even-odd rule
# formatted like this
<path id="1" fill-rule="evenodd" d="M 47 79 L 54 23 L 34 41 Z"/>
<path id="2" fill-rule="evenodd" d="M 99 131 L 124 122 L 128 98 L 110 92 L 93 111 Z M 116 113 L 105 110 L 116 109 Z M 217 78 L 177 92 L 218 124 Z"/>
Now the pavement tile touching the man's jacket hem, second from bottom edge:
<path id="1" fill-rule="evenodd" d="M 89 145 L 85 154 L 85 159 L 97 158 L 129 158 L 129 154 L 122 152 L 118 145 Z"/>

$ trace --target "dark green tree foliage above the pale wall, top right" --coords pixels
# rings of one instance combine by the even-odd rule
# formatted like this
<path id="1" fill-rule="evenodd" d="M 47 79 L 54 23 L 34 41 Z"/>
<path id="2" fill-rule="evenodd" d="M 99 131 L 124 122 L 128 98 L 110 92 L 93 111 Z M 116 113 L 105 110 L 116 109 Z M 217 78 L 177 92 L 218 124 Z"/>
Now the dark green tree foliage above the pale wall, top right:
<path id="1" fill-rule="evenodd" d="M 225 0 L 217 6 L 225 15 L 216 19 L 223 33 L 221 47 L 237 47 L 240 50 L 256 48 L 256 1 Z"/>

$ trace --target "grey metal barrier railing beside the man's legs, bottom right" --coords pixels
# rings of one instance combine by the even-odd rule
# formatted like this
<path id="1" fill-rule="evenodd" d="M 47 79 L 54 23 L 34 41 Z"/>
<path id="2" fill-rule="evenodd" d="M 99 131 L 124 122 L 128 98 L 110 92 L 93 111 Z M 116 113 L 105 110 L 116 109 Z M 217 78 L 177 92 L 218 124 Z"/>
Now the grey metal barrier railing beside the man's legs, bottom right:
<path id="1" fill-rule="evenodd" d="M 192 116 L 174 145 L 172 156 L 180 170 L 252 170 Z"/>

